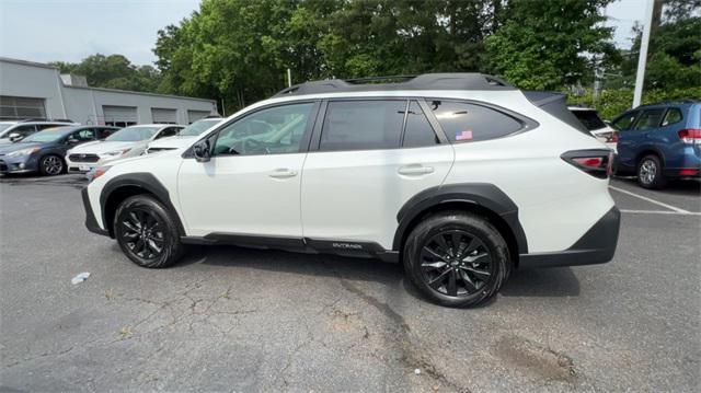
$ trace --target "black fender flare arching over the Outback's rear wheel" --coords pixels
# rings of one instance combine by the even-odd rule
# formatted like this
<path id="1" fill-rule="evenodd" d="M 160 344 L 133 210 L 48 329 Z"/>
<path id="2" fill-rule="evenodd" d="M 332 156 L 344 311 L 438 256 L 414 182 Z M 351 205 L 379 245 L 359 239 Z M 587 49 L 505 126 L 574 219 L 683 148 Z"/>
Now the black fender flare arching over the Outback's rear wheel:
<path id="1" fill-rule="evenodd" d="M 449 203 L 472 204 L 494 212 L 514 234 L 518 253 L 528 253 L 526 233 L 518 220 L 518 207 L 503 190 L 490 183 L 448 184 L 424 189 L 411 197 L 397 213 L 399 227 L 394 233 L 392 250 L 400 251 L 402 241 L 416 218 L 438 205 Z"/>

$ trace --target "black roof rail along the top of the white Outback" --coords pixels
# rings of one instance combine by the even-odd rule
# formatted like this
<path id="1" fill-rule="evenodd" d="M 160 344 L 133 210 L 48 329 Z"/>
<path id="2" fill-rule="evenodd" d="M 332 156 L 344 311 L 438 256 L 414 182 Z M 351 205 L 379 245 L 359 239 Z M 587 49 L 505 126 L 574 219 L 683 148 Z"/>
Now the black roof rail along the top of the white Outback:
<path id="1" fill-rule="evenodd" d="M 387 80 L 404 80 L 399 83 L 376 83 Z M 319 93 L 366 92 L 378 90 L 516 90 L 496 77 L 484 73 L 424 73 L 417 77 L 374 77 L 359 79 L 330 79 L 295 84 L 280 90 L 274 96 L 304 95 Z"/>

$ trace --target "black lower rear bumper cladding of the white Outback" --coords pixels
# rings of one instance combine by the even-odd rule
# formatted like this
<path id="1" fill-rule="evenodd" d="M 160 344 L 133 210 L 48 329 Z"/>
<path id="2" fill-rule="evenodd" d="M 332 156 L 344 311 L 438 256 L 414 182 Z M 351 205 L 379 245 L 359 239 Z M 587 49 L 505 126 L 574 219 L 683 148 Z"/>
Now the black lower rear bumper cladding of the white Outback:
<path id="1" fill-rule="evenodd" d="M 519 268 L 604 264 L 613 258 L 621 212 L 614 206 L 572 247 L 552 253 L 519 255 Z"/>

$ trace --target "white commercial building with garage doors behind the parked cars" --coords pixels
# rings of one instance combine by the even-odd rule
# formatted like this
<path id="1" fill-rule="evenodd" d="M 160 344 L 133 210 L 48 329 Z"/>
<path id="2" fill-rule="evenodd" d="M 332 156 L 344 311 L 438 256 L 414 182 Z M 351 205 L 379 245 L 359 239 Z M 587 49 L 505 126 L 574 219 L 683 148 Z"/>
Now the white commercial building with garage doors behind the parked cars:
<path id="1" fill-rule="evenodd" d="M 129 126 L 191 124 L 217 114 L 212 100 L 90 88 L 84 77 L 58 68 L 0 57 L 0 118 L 71 119 Z"/>

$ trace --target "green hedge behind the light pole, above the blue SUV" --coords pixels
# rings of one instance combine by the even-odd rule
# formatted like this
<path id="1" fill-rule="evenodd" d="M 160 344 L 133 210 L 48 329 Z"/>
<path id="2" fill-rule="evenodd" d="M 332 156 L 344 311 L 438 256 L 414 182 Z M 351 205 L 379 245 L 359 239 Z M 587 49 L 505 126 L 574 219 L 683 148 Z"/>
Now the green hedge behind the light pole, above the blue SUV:
<path id="1" fill-rule="evenodd" d="M 675 90 L 648 90 L 643 92 L 643 104 L 654 104 L 662 101 L 673 101 L 681 99 L 693 99 L 701 101 L 701 86 Z M 586 91 L 585 95 L 568 94 L 568 104 L 584 104 L 588 107 L 596 108 L 601 118 L 612 120 L 616 116 L 631 108 L 633 105 L 633 90 L 604 90 L 599 97 L 594 102 L 591 90 Z"/>

